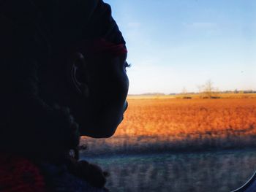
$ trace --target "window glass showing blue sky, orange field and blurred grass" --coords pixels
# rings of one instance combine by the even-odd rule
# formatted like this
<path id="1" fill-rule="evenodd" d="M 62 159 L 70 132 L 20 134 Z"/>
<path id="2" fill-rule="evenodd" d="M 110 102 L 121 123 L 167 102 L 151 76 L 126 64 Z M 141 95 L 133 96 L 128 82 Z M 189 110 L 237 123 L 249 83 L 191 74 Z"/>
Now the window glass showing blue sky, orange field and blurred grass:
<path id="1" fill-rule="evenodd" d="M 111 191 L 232 191 L 256 170 L 256 1 L 106 0 L 127 42 L 129 108 L 81 158 Z"/>

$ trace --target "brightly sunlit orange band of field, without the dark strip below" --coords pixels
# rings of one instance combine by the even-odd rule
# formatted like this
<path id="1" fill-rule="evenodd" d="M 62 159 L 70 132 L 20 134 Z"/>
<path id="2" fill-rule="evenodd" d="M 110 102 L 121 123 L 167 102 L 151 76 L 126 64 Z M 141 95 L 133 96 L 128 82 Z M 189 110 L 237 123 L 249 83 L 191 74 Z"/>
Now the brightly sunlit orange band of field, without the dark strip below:
<path id="1" fill-rule="evenodd" d="M 130 99 L 116 136 L 256 135 L 256 99 Z"/>

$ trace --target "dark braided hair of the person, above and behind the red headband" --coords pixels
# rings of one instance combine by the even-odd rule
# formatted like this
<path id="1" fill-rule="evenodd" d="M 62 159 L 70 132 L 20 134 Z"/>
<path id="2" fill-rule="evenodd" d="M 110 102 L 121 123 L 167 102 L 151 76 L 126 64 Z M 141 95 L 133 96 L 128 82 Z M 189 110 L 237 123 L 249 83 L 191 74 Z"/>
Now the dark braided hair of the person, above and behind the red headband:
<path id="1" fill-rule="evenodd" d="M 53 58 L 80 39 L 125 43 L 110 7 L 101 0 L 0 0 L 0 25 L 0 151 L 66 164 L 70 173 L 103 188 L 108 173 L 78 161 L 79 125 L 69 107 L 40 96 L 39 72 L 59 68 Z"/>

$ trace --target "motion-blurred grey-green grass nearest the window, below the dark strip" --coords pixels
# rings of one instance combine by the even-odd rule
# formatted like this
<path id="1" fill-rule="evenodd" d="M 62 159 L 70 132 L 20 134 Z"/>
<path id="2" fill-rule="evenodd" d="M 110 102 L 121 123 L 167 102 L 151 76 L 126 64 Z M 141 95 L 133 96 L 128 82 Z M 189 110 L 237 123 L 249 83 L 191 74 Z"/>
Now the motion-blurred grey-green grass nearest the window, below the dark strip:
<path id="1" fill-rule="evenodd" d="M 227 192 L 255 171 L 253 150 L 106 155 L 88 158 L 110 172 L 110 191 Z"/>

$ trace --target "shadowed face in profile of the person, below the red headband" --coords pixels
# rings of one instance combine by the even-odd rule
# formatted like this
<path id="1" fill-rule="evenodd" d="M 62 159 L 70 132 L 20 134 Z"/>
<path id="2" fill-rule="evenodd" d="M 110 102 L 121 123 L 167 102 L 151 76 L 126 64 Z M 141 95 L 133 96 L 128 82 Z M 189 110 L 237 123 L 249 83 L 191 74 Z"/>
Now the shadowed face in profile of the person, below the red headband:
<path id="1" fill-rule="evenodd" d="M 123 120 L 129 88 L 126 58 L 127 53 L 112 58 L 88 59 L 85 55 L 83 62 L 73 63 L 76 70 L 72 79 L 82 94 L 73 102 L 72 114 L 80 125 L 81 135 L 111 137 Z"/>

